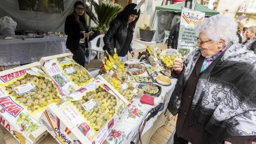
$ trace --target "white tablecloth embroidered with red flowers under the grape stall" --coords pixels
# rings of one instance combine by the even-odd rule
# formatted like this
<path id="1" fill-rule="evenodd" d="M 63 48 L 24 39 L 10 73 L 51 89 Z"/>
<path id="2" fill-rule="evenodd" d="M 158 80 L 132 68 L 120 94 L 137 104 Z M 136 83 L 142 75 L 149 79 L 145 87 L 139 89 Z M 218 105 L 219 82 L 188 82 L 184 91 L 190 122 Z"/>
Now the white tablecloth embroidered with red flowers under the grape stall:
<path id="1" fill-rule="evenodd" d="M 126 61 L 125 63 L 140 63 L 138 59 L 132 59 Z M 141 74 L 143 76 L 147 75 L 147 72 Z M 154 98 L 154 106 L 157 106 L 159 103 L 163 102 L 165 104 L 165 109 L 167 108 L 168 101 L 170 99 L 171 93 L 175 87 L 177 79 L 172 79 L 170 86 L 161 86 L 162 91 L 159 97 Z M 157 83 L 155 83 L 157 84 Z M 159 85 L 160 86 L 160 85 Z M 138 128 L 147 115 L 154 106 L 148 104 L 141 104 L 140 97 L 135 97 L 132 100 L 132 104 L 125 108 L 124 112 L 121 114 L 119 120 L 106 137 L 106 141 L 110 144 L 127 144 L 131 141 L 134 141 L 138 137 Z M 165 110 L 164 109 L 164 110 Z M 164 111 L 163 110 L 163 111 Z M 143 134 L 150 129 L 154 121 L 157 120 L 157 116 L 160 115 L 163 111 L 159 112 L 154 118 L 151 118 L 145 125 Z M 142 135 L 143 135 L 142 134 Z"/>

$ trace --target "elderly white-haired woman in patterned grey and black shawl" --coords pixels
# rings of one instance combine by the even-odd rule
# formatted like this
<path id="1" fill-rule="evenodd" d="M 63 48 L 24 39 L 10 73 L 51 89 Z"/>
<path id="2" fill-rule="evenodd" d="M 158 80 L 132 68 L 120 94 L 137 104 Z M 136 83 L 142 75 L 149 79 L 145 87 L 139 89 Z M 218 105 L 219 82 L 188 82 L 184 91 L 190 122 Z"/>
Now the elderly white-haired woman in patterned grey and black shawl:
<path id="1" fill-rule="evenodd" d="M 175 61 L 168 110 L 177 115 L 174 144 L 247 144 L 256 138 L 256 55 L 238 43 L 224 15 L 195 26 L 197 49 Z"/>

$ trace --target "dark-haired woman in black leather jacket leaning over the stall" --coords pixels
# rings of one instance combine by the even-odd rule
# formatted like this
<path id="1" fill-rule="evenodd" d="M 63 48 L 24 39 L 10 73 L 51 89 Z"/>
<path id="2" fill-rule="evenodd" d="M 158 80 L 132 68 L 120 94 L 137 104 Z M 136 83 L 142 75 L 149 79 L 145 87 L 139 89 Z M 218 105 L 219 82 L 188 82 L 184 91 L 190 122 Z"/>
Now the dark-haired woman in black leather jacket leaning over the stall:
<path id="1" fill-rule="evenodd" d="M 140 10 L 134 9 L 137 6 L 135 3 L 128 4 L 123 11 L 121 11 L 117 17 L 110 23 L 109 30 L 105 34 L 104 50 L 107 50 L 109 54 L 114 54 L 114 48 L 117 50 L 118 58 L 123 61 L 126 60 L 128 51 L 131 56 L 134 57 L 134 51 L 131 47 L 131 40 L 133 38 L 133 32 L 140 17 Z"/>

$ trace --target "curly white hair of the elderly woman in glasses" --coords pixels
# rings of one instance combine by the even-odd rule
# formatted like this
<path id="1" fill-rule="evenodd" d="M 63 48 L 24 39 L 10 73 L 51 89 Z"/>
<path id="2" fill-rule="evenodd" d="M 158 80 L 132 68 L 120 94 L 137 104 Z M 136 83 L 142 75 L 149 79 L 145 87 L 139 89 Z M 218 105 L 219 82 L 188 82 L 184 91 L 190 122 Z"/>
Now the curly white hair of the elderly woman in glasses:
<path id="1" fill-rule="evenodd" d="M 196 33 L 205 33 L 207 37 L 218 43 L 220 39 L 225 40 L 225 45 L 229 42 L 238 42 L 237 22 L 234 18 L 226 15 L 214 15 L 205 18 L 202 22 L 195 25 Z"/>

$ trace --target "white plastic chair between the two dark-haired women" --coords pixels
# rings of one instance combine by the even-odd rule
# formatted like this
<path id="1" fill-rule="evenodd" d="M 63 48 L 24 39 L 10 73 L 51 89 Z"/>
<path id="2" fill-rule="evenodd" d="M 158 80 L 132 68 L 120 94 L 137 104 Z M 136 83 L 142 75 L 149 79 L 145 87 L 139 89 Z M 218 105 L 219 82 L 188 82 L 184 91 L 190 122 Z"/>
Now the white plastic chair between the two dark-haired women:
<path id="1" fill-rule="evenodd" d="M 97 52 L 97 58 L 98 59 L 99 59 L 99 53 L 104 53 L 104 50 L 103 50 L 103 46 L 104 46 L 103 37 L 104 36 L 105 35 L 98 35 L 93 40 L 88 42 L 88 48 L 89 48 L 89 61 L 88 61 L 88 63 L 90 63 L 90 59 L 91 59 L 91 55 L 92 55 L 93 51 Z M 100 39 L 99 47 L 97 47 L 98 39 Z"/>

